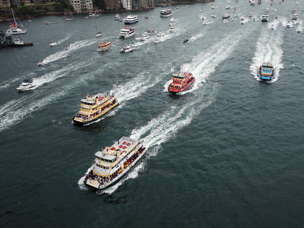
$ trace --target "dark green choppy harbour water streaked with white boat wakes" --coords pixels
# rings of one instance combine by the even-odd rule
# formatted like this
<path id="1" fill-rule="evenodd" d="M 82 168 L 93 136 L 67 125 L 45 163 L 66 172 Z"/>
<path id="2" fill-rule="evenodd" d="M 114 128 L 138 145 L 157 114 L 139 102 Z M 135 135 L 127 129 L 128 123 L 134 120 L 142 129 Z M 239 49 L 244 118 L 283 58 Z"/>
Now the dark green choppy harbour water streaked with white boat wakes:
<path id="1" fill-rule="evenodd" d="M 137 12 L 130 53 L 119 53 L 124 25 L 115 13 L 97 19 L 98 38 L 96 18 L 85 15 L 22 22 L 28 33 L 20 37 L 34 46 L 0 50 L 1 226 L 303 226 L 304 55 L 303 33 L 296 32 L 303 3 L 296 7 L 301 25 L 284 26 L 294 3 L 275 2 L 262 23 L 270 3 L 231 2 L 228 12 L 244 15 L 243 25 L 223 23 L 226 1 L 216 1 L 215 11 L 211 3 L 202 12 L 199 4 L 172 6 L 174 33 L 160 8 L 147 11 L 149 19 Z M 202 25 L 202 16 L 212 23 Z M 164 33 L 161 43 L 138 40 L 148 27 Z M 187 37 L 191 42 L 182 43 Z M 112 48 L 96 51 L 108 39 Z M 59 45 L 48 47 L 52 41 Z M 38 67 L 40 60 L 47 64 Z M 256 77 L 268 60 L 276 67 L 271 83 Z M 179 69 L 191 71 L 195 85 L 170 95 L 171 73 Z M 37 86 L 18 93 L 24 78 Z M 74 126 L 80 98 L 103 91 L 118 96 L 119 108 Z M 147 156 L 113 187 L 88 189 L 82 180 L 95 151 L 121 136 L 143 139 Z"/>

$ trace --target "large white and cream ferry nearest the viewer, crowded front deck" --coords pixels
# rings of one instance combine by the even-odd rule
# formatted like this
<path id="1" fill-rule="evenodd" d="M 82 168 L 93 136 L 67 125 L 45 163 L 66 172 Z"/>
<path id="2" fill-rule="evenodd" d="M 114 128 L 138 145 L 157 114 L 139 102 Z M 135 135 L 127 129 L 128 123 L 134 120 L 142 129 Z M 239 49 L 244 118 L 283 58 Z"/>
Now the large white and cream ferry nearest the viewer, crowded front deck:
<path id="1" fill-rule="evenodd" d="M 93 168 L 84 183 L 100 191 L 116 184 L 146 155 L 142 142 L 123 136 L 115 144 L 95 153 Z"/>

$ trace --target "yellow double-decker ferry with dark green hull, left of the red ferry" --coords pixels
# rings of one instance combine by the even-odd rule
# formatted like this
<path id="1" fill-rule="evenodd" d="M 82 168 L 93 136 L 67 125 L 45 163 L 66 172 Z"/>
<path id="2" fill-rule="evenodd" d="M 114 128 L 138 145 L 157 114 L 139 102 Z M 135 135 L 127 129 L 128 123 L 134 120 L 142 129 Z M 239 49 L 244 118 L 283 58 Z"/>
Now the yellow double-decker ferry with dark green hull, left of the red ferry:
<path id="1" fill-rule="evenodd" d="M 80 102 L 81 109 L 73 115 L 72 120 L 81 125 L 99 119 L 119 105 L 117 98 L 107 93 L 98 93 L 95 96 L 88 94 Z"/>

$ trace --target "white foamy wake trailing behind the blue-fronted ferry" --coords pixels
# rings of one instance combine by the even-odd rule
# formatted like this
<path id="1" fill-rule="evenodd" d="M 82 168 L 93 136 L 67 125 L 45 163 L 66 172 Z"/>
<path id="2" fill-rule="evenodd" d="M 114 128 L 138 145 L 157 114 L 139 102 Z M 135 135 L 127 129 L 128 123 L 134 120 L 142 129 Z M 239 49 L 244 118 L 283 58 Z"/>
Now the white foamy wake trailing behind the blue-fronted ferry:
<path id="1" fill-rule="evenodd" d="M 270 31 L 268 31 L 269 33 Z M 280 69 L 283 68 L 282 56 L 283 50 L 281 45 L 283 44 L 282 33 L 278 32 L 277 36 L 269 39 L 269 36 L 261 36 L 260 40 L 257 41 L 256 52 L 254 53 L 253 62 L 250 65 L 251 74 L 257 80 L 257 71 L 261 66 L 262 62 L 272 62 L 275 67 L 275 78 L 269 82 L 275 82 L 280 76 Z"/>

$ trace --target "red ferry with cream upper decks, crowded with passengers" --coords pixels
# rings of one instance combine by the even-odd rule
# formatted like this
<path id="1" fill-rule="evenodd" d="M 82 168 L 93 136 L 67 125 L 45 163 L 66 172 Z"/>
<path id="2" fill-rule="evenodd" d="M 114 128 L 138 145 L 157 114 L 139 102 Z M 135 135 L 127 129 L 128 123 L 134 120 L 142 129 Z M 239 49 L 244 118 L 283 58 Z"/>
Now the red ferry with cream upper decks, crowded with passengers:
<path id="1" fill-rule="evenodd" d="M 168 90 L 178 93 L 188 90 L 193 85 L 195 78 L 190 72 L 178 71 L 176 74 L 172 74 L 172 80 Z"/>

